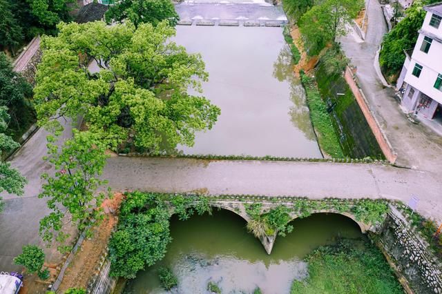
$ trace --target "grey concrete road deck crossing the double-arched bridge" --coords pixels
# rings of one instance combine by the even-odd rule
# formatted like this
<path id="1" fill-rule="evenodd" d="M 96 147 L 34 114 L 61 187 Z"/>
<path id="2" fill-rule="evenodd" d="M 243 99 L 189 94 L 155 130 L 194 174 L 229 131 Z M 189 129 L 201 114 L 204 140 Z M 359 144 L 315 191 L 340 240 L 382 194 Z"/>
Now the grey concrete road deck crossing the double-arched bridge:
<path id="1" fill-rule="evenodd" d="M 441 184 L 434 174 L 380 164 L 113 157 L 103 177 L 115 190 L 162 193 L 366 197 L 405 203 L 416 195 L 419 212 L 442 217 Z"/>

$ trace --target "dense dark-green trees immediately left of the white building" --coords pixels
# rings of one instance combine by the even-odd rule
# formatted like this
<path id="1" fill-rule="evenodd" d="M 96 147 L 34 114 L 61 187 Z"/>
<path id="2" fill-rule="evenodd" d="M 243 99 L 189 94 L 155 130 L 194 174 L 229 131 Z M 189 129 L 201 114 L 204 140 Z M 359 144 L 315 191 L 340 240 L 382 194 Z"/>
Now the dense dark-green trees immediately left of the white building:
<path id="1" fill-rule="evenodd" d="M 405 61 L 404 50 L 414 48 L 419 29 L 425 19 L 426 11 L 423 6 L 439 2 L 439 0 L 414 1 L 410 8 L 405 10 L 403 20 L 384 36 L 379 63 L 383 74 L 390 83 L 396 82 Z"/>

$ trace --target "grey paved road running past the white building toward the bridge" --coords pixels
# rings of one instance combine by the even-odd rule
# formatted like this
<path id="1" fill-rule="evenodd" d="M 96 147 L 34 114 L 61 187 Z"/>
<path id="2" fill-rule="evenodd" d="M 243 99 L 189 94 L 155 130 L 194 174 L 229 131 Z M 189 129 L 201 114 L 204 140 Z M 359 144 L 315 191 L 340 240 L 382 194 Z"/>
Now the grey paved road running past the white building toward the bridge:
<path id="1" fill-rule="evenodd" d="M 387 25 L 377 0 L 369 1 L 367 13 L 369 22 L 365 41 L 358 42 L 352 35 L 343 37 L 341 39 L 343 50 L 358 68 L 356 75 L 369 106 L 398 154 L 396 163 L 440 173 L 442 137 L 430 128 L 423 125 L 416 126 L 407 121 L 395 99 L 394 90 L 383 86 L 376 75 L 374 58 L 383 35 L 387 32 Z M 420 186 L 425 185 L 425 182 L 420 183 Z"/>

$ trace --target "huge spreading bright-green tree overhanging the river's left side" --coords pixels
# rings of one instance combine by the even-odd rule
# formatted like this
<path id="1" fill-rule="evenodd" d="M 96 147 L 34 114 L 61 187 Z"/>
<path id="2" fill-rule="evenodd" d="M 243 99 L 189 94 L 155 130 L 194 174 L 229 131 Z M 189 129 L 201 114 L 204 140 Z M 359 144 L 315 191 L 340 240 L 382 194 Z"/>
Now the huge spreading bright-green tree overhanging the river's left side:
<path id="1" fill-rule="evenodd" d="M 39 124 L 60 128 L 57 117 L 84 115 L 88 129 L 115 148 L 133 138 L 157 153 L 193 145 L 195 131 L 210 129 L 220 114 L 201 91 L 204 62 L 171 37 L 166 21 L 153 26 L 104 22 L 61 23 L 58 37 L 42 40 L 35 101 Z M 95 70 L 88 67 L 93 61 Z"/>

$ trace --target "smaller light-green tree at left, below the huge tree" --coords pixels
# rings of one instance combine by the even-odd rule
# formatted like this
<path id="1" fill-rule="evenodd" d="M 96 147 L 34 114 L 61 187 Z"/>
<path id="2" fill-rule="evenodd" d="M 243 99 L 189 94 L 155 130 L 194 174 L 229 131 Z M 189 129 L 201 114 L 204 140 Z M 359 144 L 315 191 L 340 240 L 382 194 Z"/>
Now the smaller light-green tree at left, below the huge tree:
<path id="1" fill-rule="evenodd" d="M 73 138 L 61 148 L 55 144 L 55 137 L 48 137 L 48 141 L 46 159 L 55 166 L 56 172 L 52 177 L 41 176 L 47 182 L 39 198 L 48 198 L 52 212 L 40 220 L 40 234 L 46 242 L 55 237 L 63 243 L 68 237 L 64 233 L 65 224 L 84 230 L 101 215 L 99 206 L 105 195 L 97 193 L 97 188 L 106 183 L 99 179 L 106 164 L 106 144 L 99 135 L 78 130 L 73 130 Z"/>

